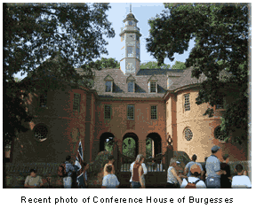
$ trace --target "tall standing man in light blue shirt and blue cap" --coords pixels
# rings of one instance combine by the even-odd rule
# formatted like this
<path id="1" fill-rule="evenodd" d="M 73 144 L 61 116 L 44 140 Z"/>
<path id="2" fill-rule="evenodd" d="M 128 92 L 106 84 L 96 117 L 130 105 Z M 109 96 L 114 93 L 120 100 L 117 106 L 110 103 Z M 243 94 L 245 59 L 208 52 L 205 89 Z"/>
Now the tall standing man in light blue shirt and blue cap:
<path id="1" fill-rule="evenodd" d="M 207 189 L 220 189 L 220 174 L 226 171 L 220 170 L 221 149 L 215 145 L 212 147 L 212 155 L 206 160 L 206 187 Z"/>

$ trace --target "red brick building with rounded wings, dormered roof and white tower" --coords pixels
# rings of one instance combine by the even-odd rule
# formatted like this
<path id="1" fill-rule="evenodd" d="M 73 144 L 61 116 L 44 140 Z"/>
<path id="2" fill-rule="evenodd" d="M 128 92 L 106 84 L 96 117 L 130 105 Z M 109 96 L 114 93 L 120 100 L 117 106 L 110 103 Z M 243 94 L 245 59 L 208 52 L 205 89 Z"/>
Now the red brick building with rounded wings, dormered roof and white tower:
<path id="1" fill-rule="evenodd" d="M 189 157 L 196 153 L 199 162 L 211 155 L 215 144 L 223 147 L 231 161 L 247 158 L 247 143 L 225 143 L 220 132 L 221 112 L 232 94 L 214 106 L 214 116 L 208 118 L 203 116 L 208 104 L 196 104 L 204 75 L 199 80 L 191 78 L 192 68 L 140 69 L 137 22 L 132 13 L 124 19 L 121 67 L 94 71 L 92 89 L 31 95 L 28 111 L 35 117 L 28 124 L 31 130 L 12 144 L 12 162 L 61 162 L 68 154 L 75 158 L 79 140 L 84 160 L 89 162 L 104 150 L 109 137 L 121 152 L 124 139 L 132 137 L 136 153 L 144 155 L 146 140 L 151 138 L 156 155 L 164 153 L 166 135 L 172 136 L 174 150 L 186 151 Z"/>

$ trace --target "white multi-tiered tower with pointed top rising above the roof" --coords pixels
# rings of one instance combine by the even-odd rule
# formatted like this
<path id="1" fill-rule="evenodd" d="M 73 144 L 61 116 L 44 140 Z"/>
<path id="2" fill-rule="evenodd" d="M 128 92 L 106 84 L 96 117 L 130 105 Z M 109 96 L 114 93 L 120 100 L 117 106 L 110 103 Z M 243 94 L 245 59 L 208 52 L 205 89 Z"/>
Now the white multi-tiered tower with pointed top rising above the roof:
<path id="1" fill-rule="evenodd" d="M 121 70 L 125 74 L 136 74 L 140 70 L 140 28 L 137 27 L 138 20 L 132 11 L 124 19 L 124 27 L 121 28 L 122 59 Z"/>

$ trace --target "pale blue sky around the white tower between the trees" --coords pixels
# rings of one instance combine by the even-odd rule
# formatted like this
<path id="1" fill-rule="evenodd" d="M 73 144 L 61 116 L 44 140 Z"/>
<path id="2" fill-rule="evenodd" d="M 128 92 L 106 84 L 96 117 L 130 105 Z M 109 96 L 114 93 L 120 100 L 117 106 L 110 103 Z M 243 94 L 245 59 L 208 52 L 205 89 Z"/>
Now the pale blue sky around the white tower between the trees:
<path id="1" fill-rule="evenodd" d="M 131 3 L 110 3 L 111 9 L 108 10 L 108 20 L 112 23 L 112 27 L 115 30 L 114 38 L 107 38 L 105 36 L 106 41 L 108 41 L 108 45 L 106 46 L 108 50 L 108 55 L 102 55 L 103 58 L 116 58 L 119 62 L 121 60 L 121 38 L 119 34 L 121 33 L 121 27 L 124 27 L 123 20 L 126 18 L 126 15 L 130 13 L 130 4 Z M 160 14 L 164 10 L 163 3 L 132 3 L 132 13 L 139 22 L 137 23 L 137 27 L 140 27 L 140 64 L 148 62 L 148 61 L 156 61 L 153 56 L 146 50 L 146 38 L 149 36 L 149 25 L 148 19 L 152 19 L 156 17 L 156 14 Z M 164 59 L 164 64 L 173 65 L 175 61 L 185 62 L 186 58 L 188 58 L 189 51 L 194 46 L 194 41 L 189 42 L 188 51 L 184 52 L 184 54 L 174 54 L 174 61 L 171 62 L 168 58 Z M 20 73 L 17 73 L 15 77 L 24 78 L 20 76 Z"/>

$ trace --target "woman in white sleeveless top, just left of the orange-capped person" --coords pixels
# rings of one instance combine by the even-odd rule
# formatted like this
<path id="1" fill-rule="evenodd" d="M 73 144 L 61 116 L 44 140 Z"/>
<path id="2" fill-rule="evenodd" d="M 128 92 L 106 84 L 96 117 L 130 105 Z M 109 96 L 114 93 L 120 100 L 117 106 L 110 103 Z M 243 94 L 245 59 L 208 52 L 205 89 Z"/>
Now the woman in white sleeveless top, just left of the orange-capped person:
<path id="1" fill-rule="evenodd" d="M 181 184 L 181 178 L 176 171 L 179 161 L 176 158 L 170 159 L 170 166 L 167 170 L 167 183 L 166 188 L 170 189 L 179 189 Z"/>

